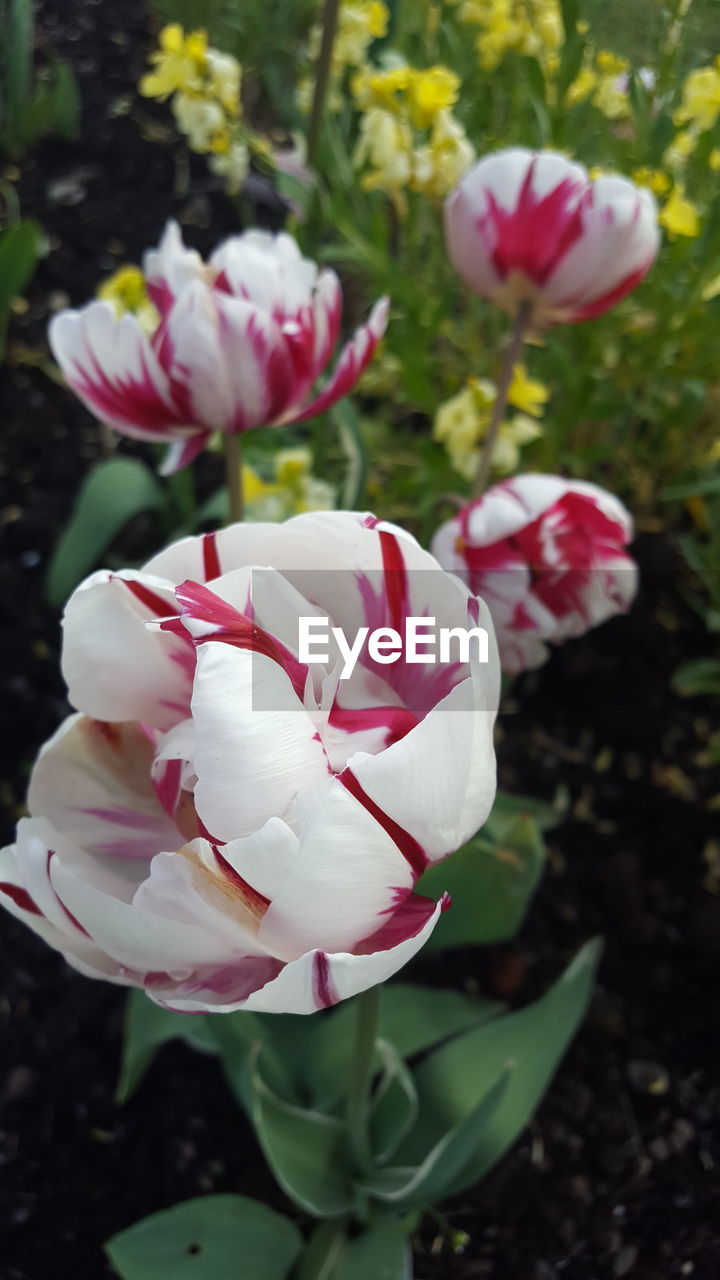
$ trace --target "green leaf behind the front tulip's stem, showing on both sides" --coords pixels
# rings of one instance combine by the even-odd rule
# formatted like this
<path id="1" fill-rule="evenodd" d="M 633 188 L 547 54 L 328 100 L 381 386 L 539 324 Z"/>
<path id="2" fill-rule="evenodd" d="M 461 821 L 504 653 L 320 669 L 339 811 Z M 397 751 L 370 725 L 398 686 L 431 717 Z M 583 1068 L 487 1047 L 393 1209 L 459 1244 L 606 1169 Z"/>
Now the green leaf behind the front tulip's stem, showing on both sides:
<path id="1" fill-rule="evenodd" d="M 457 991 L 391 983 L 380 989 L 378 1038 L 392 1044 L 402 1059 L 409 1059 L 496 1018 L 502 1007 L 497 1001 L 477 1000 Z M 300 1055 L 301 1083 L 314 1105 L 323 1110 L 347 1088 L 356 1016 L 355 1001 L 346 1000 L 332 1012 L 313 1019 L 310 1041 Z"/>

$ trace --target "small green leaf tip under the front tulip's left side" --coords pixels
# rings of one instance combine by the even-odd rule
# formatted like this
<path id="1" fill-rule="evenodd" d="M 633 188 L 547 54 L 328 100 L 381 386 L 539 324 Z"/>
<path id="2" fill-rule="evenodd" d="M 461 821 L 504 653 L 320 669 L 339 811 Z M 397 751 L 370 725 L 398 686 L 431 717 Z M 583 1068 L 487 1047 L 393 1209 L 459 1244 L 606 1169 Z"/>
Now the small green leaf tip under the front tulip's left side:
<path id="1" fill-rule="evenodd" d="M 172 1014 L 154 1004 L 143 991 L 131 991 L 126 1005 L 117 1102 L 127 1102 L 132 1097 L 158 1051 L 172 1039 L 182 1039 L 201 1053 L 217 1053 L 208 1018 Z"/>

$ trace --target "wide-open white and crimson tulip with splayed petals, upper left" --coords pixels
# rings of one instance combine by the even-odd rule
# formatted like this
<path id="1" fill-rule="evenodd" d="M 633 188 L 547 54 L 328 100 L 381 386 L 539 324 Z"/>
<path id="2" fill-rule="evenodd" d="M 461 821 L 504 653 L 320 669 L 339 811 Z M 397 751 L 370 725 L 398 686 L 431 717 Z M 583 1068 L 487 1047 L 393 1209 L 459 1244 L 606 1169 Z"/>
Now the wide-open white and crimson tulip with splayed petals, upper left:
<path id="1" fill-rule="evenodd" d="M 167 474 L 192 462 L 213 431 L 323 413 L 355 387 L 387 325 L 382 298 L 314 390 L 338 339 L 342 291 L 291 236 L 232 236 L 205 264 L 168 223 L 143 270 L 160 317 L 150 337 L 133 315 L 118 317 L 99 301 L 60 312 L 49 337 L 68 384 L 100 421 L 170 443 Z"/>

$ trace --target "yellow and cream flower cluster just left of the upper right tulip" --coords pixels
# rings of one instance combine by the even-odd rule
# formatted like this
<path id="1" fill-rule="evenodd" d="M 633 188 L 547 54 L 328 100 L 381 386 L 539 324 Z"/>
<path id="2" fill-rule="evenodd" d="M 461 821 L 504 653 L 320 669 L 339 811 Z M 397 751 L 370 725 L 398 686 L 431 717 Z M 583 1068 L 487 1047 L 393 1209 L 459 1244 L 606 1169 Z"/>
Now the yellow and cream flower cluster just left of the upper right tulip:
<path id="1" fill-rule="evenodd" d="M 361 184 L 384 191 L 400 218 L 407 210 L 406 191 L 442 198 L 475 159 L 451 110 L 460 77 L 447 67 L 364 67 L 352 93 L 363 113 L 354 157 L 366 170 Z"/>

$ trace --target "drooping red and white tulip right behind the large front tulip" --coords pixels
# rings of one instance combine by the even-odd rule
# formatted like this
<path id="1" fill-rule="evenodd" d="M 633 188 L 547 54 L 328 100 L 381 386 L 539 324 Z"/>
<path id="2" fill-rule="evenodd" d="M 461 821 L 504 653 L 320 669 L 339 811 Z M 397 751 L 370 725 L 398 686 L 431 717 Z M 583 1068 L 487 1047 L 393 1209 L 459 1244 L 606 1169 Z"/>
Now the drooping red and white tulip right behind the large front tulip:
<path id="1" fill-rule="evenodd" d="M 624 613 L 637 591 L 633 521 L 605 489 L 520 475 L 488 489 L 434 535 L 443 568 L 482 593 L 506 672 L 539 667 L 547 643 Z"/>

